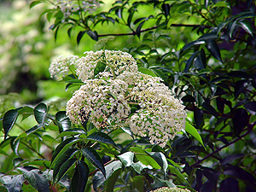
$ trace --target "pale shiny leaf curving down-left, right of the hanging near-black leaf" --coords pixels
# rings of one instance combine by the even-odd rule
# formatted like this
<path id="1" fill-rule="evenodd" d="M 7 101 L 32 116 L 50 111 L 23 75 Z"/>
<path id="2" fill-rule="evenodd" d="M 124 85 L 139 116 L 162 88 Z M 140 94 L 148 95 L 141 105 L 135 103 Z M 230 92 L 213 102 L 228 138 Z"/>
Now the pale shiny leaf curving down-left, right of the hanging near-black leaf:
<path id="1" fill-rule="evenodd" d="M 106 177 L 103 176 L 102 172 L 96 172 L 93 177 L 92 184 L 93 189 L 96 191 L 97 187 L 101 186 L 112 174 L 122 168 L 122 163 L 119 160 L 115 160 L 105 166 Z"/>

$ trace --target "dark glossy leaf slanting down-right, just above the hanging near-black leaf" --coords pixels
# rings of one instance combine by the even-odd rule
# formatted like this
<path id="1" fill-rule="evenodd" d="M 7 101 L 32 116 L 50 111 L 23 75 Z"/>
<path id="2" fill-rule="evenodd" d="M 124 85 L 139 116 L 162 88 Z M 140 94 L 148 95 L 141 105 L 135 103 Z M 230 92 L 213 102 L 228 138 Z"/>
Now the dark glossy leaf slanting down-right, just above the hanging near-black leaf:
<path id="1" fill-rule="evenodd" d="M 103 173 L 103 175 L 106 176 L 106 171 L 102 162 L 102 158 L 94 148 L 84 147 L 81 149 L 81 152 L 92 165 L 96 166 Z"/>

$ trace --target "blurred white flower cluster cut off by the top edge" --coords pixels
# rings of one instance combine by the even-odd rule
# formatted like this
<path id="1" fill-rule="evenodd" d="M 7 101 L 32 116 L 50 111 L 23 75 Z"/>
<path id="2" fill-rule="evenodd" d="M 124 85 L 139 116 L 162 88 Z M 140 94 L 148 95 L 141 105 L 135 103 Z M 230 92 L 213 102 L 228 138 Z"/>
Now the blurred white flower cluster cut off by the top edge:
<path id="1" fill-rule="evenodd" d="M 77 11 L 91 14 L 100 7 L 98 0 L 56 0 L 56 2 L 65 18 Z"/>

